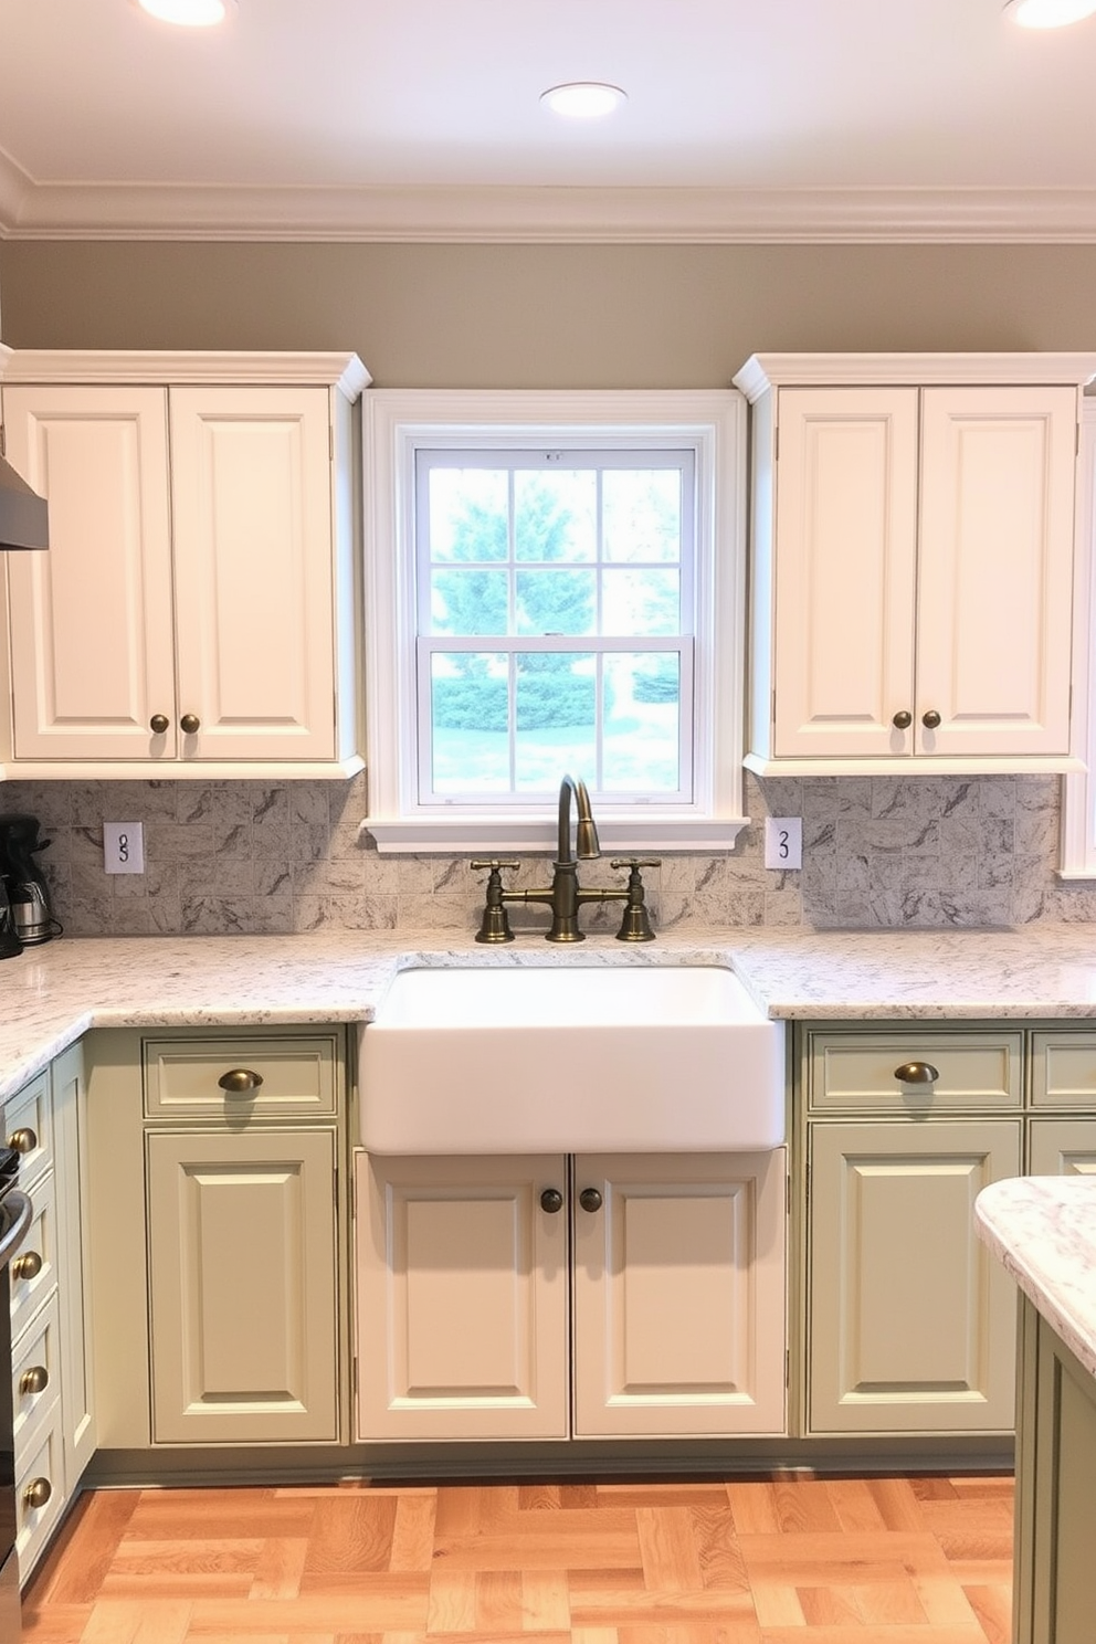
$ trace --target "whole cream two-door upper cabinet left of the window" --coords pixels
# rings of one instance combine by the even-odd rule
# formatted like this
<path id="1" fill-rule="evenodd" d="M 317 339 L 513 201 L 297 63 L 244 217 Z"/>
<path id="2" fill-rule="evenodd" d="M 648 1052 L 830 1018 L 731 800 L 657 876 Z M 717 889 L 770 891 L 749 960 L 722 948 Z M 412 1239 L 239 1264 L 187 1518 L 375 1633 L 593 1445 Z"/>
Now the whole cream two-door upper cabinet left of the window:
<path id="1" fill-rule="evenodd" d="M 8 358 L 12 774 L 360 768 L 350 355 Z M 84 769 L 85 768 L 85 769 Z"/>

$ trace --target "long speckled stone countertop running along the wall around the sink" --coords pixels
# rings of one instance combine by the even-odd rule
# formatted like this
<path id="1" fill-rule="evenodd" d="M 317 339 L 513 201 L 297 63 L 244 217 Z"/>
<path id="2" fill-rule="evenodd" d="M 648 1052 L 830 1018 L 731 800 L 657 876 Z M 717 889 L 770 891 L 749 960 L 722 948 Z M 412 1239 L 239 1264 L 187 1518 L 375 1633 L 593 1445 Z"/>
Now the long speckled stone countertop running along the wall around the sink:
<path id="1" fill-rule="evenodd" d="M 636 947 L 595 935 L 385 931 L 102 937 L 0 960 L 0 1100 L 89 1028 L 368 1021 L 408 963 L 731 963 L 769 1016 L 912 1021 L 1094 1018 L 1096 927 L 1015 931 L 677 929 Z"/>

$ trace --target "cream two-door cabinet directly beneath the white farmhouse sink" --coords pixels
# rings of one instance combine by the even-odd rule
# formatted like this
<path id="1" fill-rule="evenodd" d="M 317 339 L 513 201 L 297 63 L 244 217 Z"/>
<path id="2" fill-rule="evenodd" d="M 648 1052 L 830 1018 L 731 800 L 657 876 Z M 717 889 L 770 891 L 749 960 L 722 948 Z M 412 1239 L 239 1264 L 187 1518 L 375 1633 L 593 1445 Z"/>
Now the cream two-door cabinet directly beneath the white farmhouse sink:
<path id="1" fill-rule="evenodd" d="M 785 1432 L 787 1154 L 355 1159 L 358 1438 Z"/>

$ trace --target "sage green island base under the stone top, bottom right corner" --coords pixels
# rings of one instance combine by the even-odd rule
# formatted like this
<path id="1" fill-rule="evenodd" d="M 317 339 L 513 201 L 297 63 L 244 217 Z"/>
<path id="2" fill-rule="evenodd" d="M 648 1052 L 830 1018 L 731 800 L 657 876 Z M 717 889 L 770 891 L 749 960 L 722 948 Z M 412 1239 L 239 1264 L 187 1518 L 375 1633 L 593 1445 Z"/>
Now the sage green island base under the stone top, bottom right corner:
<path id="1" fill-rule="evenodd" d="M 1096 1381 L 1020 1297 L 1012 1644 L 1091 1644 Z"/>

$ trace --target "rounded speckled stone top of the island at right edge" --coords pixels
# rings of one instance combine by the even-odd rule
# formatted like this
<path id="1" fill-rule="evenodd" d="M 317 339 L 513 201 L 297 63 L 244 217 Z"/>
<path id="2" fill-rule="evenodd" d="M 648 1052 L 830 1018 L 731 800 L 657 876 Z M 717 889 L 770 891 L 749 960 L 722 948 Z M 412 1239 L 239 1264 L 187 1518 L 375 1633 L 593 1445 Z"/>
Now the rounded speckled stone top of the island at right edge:
<path id="1" fill-rule="evenodd" d="M 979 1236 L 1096 1376 L 1096 1180 L 1024 1175 L 974 1200 Z"/>

